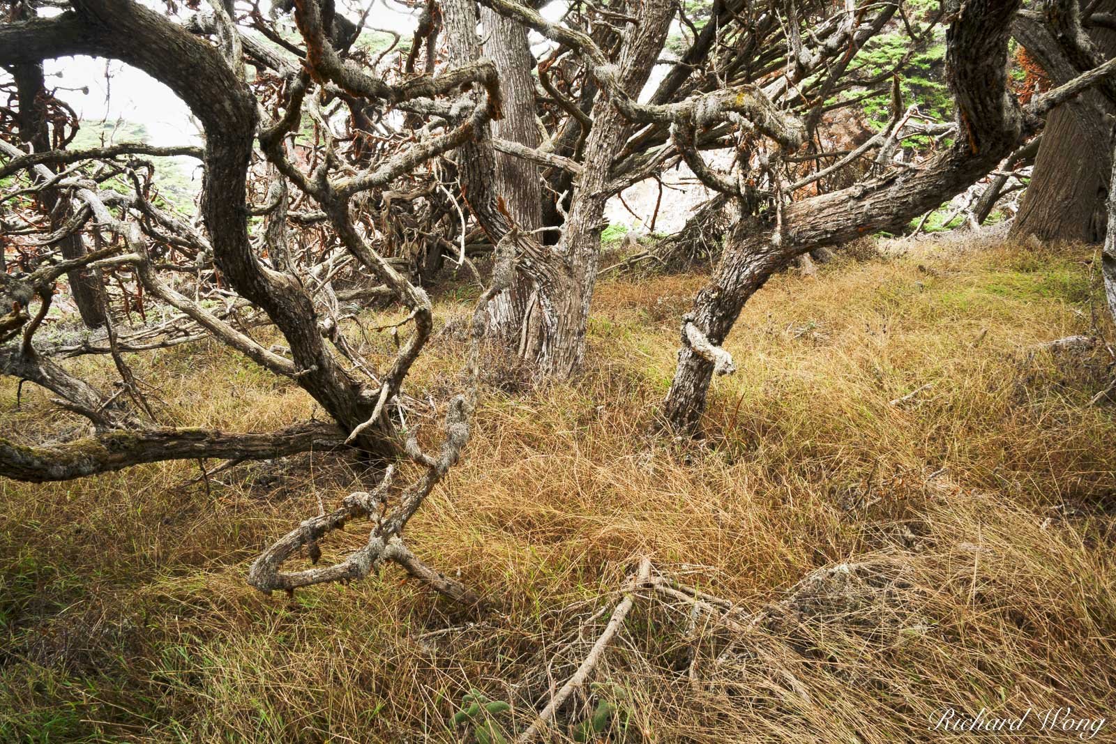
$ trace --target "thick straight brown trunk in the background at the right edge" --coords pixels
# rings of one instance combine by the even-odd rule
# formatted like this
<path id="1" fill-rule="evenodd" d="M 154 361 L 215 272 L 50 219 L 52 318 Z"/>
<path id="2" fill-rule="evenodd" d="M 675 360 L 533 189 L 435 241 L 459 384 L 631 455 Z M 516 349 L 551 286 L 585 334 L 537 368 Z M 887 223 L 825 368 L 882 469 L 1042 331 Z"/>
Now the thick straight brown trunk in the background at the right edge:
<path id="1" fill-rule="evenodd" d="M 1116 0 L 1104 0 L 1096 11 L 1116 11 Z M 1116 55 L 1116 31 L 1093 28 L 1089 37 L 1106 58 Z M 1022 44 L 1027 47 L 1027 40 Z M 1054 66 L 1046 71 L 1055 85 L 1068 79 Z M 1104 240 L 1112 156 L 1104 118 L 1112 110 L 1099 90 L 1087 90 L 1080 100 L 1050 112 L 1030 184 L 1011 228 L 1012 238 L 1035 235 L 1040 240 L 1086 243 Z"/>

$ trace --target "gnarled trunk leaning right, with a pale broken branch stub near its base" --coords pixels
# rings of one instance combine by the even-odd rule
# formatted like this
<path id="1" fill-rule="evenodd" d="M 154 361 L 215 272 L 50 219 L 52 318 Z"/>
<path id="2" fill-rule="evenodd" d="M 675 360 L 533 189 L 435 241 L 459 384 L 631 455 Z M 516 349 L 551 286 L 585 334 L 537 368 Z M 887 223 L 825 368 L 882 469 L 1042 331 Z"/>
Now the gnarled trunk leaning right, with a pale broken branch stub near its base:
<path id="1" fill-rule="evenodd" d="M 683 318 L 682 347 L 663 413 L 675 431 L 699 428 L 714 371 L 732 370 L 720 349 L 744 303 L 796 257 L 879 230 L 896 230 L 960 193 L 1007 156 L 1023 122 L 1007 96 L 1003 65 L 1017 2 L 964 3 L 947 36 L 961 135 L 916 171 L 892 172 L 849 189 L 787 204 L 773 221 L 741 220 L 711 282 Z M 696 342 L 695 342 L 696 341 Z"/>

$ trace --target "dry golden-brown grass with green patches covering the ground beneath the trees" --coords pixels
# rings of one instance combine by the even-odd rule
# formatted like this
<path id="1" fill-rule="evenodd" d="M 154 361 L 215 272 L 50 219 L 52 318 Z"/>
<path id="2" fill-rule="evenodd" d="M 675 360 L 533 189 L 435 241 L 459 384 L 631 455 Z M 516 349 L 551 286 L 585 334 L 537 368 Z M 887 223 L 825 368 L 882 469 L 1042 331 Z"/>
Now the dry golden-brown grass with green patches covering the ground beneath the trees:
<path id="1" fill-rule="evenodd" d="M 560 736 L 586 738 L 593 711 L 588 738 L 627 742 L 940 741 L 942 706 L 1112 718 L 1116 417 L 1087 405 L 1110 358 L 1031 350 L 1112 338 L 1089 258 L 922 244 L 779 277 L 728 342 L 739 371 L 714 383 L 702 446 L 647 427 L 704 277 L 603 283 L 585 374 L 526 390 L 493 375 L 465 457 L 408 526 L 417 554 L 500 603 L 487 615 L 394 569 L 294 600 L 246 586 L 268 542 L 360 482 L 337 457 L 209 490 L 193 463 L 0 481 L 0 740 L 466 741 L 450 718 L 471 689 L 513 704 L 498 732 L 522 731 L 641 555 L 761 615 L 730 632 L 637 598 Z M 452 387 L 458 350 L 425 357 L 411 392 Z M 136 365 L 164 423 L 312 413 L 217 346 Z M 6 428 L 73 425 L 44 392 L 18 410 L 16 395 L 0 386 Z M 1079 741 L 1018 741 L 1037 738 Z"/>

